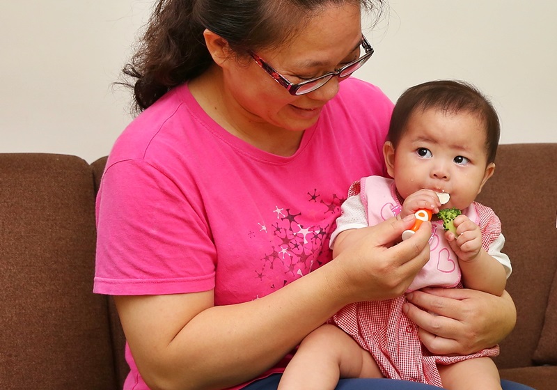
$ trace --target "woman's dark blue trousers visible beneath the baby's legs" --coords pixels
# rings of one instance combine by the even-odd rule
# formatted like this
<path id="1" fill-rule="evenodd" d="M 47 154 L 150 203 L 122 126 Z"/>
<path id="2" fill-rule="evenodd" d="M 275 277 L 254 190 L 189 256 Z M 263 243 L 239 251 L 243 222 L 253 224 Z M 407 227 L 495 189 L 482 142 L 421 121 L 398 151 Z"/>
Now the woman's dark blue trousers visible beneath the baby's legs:
<path id="1" fill-rule="evenodd" d="M 276 390 L 278 382 L 281 380 L 281 374 L 274 374 L 257 382 L 249 384 L 245 390 Z M 533 390 L 531 387 L 501 380 L 503 390 Z M 341 379 L 338 382 L 336 390 L 434 390 L 439 387 L 430 386 L 429 384 L 407 382 L 405 380 L 390 379 Z"/>

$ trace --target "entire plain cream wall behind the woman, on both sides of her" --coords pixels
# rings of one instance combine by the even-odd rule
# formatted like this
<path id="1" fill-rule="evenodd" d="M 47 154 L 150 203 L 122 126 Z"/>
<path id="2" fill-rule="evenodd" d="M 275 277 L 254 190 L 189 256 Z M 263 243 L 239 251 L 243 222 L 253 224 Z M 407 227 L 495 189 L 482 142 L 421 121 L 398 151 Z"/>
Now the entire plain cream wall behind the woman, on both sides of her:
<path id="1" fill-rule="evenodd" d="M 0 153 L 107 155 L 131 120 L 114 89 L 152 1 L 3 1 Z M 557 141 L 557 3 L 390 1 L 357 73 L 395 100 L 408 86 L 466 79 L 494 102 L 502 143 Z"/>

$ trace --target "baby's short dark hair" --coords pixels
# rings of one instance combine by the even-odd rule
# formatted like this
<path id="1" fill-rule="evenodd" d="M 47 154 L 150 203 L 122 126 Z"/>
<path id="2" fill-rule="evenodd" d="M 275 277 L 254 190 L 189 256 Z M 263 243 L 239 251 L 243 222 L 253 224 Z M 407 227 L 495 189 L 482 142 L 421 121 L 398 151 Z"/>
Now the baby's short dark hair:
<path id="1" fill-rule="evenodd" d="M 449 114 L 466 111 L 478 116 L 485 125 L 487 163 L 495 161 L 501 133 L 499 117 L 492 103 L 476 87 L 465 81 L 437 80 L 408 88 L 395 104 L 387 134 L 387 140 L 395 148 L 405 134 L 408 118 L 417 109 L 439 109 Z"/>

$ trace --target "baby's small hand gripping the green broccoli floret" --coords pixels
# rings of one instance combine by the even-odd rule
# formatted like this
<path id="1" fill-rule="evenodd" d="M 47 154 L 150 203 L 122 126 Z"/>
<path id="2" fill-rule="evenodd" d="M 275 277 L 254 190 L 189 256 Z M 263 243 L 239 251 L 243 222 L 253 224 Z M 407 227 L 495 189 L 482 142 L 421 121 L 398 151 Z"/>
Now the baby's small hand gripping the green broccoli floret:
<path id="1" fill-rule="evenodd" d="M 482 249 L 482 231 L 466 215 L 460 214 L 455 218 L 457 236 L 451 231 L 445 232 L 450 247 L 462 261 L 472 261 Z"/>

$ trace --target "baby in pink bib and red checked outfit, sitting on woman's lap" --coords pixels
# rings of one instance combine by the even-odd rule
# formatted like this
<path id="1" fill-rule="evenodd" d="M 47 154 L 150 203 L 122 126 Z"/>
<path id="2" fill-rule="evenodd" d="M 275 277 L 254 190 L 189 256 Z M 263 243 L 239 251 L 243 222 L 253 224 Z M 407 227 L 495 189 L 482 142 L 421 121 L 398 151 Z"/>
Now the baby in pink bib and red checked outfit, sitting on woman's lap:
<path id="1" fill-rule="evenodd" d="M 331 237 L 334 256 L 356 228 L 396 216 L 444 208 L 462 214 L 445 231 L 433 217 L 430 260 L 407 292 L 462 287 L 501 295 L 511 267 L 501 252 L 501 222 L 475 201 L 493 175 L 499 118 L 485 97 L 462 81 L 409 88 L 395 105 L 383 153 L 392 178 L 355 182 Z M 339 377 L 389 377 L 450 390 L 501 389 L 490 357 L 499 347 L 465 356 L 437 356 L 418 337 L 402 308 L 405 296 L 358 302 L 309 334 L 285 370 L 279 390 L 334 389 Z"/>

